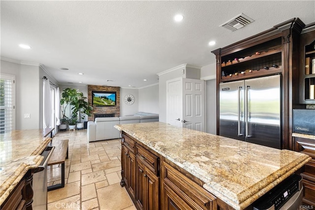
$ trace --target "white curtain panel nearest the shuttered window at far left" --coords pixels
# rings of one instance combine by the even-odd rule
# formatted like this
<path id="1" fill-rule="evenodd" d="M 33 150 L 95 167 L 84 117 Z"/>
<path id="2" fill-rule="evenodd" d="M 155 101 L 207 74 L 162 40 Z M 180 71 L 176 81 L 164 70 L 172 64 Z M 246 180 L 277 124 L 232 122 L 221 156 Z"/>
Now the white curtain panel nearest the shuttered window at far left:
<path id="1" fill-rule="evenodd" d="M 49 79 L 43 79 L 43 102 L 44 128 L 51 128 L 52 105 Z"/>

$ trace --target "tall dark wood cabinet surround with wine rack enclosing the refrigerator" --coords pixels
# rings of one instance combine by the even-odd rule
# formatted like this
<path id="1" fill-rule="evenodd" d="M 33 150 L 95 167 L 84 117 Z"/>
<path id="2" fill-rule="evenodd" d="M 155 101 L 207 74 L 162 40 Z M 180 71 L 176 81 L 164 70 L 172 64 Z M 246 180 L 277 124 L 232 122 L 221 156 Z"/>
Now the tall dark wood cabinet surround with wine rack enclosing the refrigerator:
<path id="1" fill-rule="evenodd" d="M 219 84 L 281 74 L 283 149 L 292 146 L 292 109 L 299 106 L 299 42 L 305 24 L 298 18 L 212 51 L 217 60 L 217 135 L 220 134 Z"/>

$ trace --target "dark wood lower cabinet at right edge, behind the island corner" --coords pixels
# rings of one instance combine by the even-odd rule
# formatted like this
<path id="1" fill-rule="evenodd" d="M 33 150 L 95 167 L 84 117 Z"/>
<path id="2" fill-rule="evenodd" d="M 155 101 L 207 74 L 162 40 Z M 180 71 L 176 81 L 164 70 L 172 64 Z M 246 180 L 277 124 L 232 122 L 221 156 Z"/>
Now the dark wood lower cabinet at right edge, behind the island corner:
<path id="1" fill-rule="evenodd" d="M 293 137 L 294 150 L 305 153 L 312 157 L 300 170 L 303 177 L 303 203 L 305 205 L 315 205 L 315 139 L 305 139 Z"/>

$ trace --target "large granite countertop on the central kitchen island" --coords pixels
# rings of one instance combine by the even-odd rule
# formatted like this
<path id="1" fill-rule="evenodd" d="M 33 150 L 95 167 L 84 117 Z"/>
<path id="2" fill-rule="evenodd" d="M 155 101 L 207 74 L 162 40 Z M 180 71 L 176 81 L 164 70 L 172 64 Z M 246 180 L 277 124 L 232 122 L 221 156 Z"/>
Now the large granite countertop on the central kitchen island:
<path id="1" fill-rule="evenodd" d="M 210 193 L 237 210 L 293 174 L 311 157 L 166 123 L 116 125 L 196 176 Z"/>

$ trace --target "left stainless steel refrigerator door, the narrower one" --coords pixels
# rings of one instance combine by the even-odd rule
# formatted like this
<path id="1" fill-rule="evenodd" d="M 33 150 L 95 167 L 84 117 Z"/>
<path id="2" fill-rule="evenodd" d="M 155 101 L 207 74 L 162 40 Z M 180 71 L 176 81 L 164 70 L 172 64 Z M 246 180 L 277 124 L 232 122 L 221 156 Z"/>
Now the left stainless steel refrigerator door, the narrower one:
<path id="1" fill-rule="evenodd" d="M 219 135 L 244 140 L 244 80 L 220 84 Z"/>

